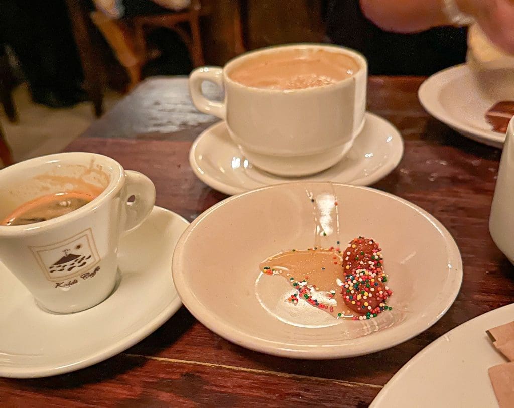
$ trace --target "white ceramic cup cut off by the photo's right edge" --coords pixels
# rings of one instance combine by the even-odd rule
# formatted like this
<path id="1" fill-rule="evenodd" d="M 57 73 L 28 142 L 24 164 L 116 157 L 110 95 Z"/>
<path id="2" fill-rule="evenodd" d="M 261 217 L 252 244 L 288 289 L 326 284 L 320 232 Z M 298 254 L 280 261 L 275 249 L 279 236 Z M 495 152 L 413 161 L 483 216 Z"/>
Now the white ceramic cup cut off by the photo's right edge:
<path id="1" fill-rule="evenodd" d="M 494 243 L 514 264 L 514 119 L 509 123 L 489 217 Z"/>

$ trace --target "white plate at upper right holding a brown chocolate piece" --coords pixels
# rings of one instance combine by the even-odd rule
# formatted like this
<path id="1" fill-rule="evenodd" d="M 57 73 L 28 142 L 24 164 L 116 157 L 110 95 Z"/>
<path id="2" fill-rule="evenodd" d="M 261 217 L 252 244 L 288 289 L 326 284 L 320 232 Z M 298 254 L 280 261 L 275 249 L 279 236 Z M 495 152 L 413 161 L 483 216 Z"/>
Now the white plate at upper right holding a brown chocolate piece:
<path id="1" fill-rule="evenodd" d="M 493 132 L 486 112 L 497 102 L 486 97 L 470 68 L 456 65 L 429 77 L 418 90 L 419 102 L 437 120 L 470 139 L 503 147 L 505 135 Z"/>

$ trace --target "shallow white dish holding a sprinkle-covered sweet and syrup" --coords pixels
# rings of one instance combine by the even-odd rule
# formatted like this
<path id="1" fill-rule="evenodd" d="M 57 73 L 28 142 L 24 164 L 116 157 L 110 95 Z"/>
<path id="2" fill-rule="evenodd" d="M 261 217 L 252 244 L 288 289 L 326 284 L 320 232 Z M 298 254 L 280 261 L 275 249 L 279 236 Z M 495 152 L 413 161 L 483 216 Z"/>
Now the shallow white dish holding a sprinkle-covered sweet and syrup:
<path id="1" fill-rule="evenodd" d="M 321 226 L 326 236 L 314 233 Z M 291 285 L 259 270 L 281 251 L 343 245 L 359 235 L 380 243 L 393 290 L 393 310 L 375 319 L 335 319 L 303 299 L 284 302 Z M 462 260 L 443 225 L 408 201 L 296 182 L 228 198 L 201 214 L 180 237 L 173 277 L 184 305 L 227 340 L 277 356 L 328 359 L 373 353 L 429 328 L 458 293 Z"/>

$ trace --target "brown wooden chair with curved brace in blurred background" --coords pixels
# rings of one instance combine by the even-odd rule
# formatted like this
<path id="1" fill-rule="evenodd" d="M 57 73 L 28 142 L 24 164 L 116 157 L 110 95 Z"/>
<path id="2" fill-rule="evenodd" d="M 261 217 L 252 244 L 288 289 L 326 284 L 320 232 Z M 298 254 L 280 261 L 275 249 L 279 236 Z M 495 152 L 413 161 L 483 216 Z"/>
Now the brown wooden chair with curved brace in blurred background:
<path id="1" fill-rule="evenodd" d="M 177 32 L 189 49 L 193 65 L 204 65 L 199 27 L 200 14 L 199 0 L 191 0 L 189 7 L 180 11 L 138 15 L 123 20 L 114 20 L 100 11 L 94 11 L 91 18 L 113 48 L 118 61 L 126 69 L 130 77 L 129 88 L 132 88 L 141 80 L 141 68 L 149 60 L 145 36 L 155 28 L 165 27 Z M 189 32 L 181 24 L 189 25 Z"/>

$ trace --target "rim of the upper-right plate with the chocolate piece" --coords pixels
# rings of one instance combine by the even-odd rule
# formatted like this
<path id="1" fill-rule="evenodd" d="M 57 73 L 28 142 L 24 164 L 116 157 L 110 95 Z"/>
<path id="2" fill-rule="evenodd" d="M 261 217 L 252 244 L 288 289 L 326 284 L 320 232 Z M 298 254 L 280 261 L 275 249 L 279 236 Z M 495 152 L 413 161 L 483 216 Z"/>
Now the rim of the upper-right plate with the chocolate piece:
<path id="1" fill-rule="evenodd" d="M 451 127 L 457 133 L 493 147 L 503 147 L 505 135 L 493 131 L 484 131 L 466 122 L 454 119 L 446 113 L 446 109 L 437 100 L 437 96 L 443 88 L 443 85 L 465 75 L 470 75 L 470 68 L 465 63 L 454 65 L 434 73 L 419 86 L 417 92 L 419 103 L 430 116 Z"/>

